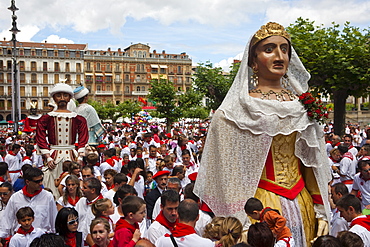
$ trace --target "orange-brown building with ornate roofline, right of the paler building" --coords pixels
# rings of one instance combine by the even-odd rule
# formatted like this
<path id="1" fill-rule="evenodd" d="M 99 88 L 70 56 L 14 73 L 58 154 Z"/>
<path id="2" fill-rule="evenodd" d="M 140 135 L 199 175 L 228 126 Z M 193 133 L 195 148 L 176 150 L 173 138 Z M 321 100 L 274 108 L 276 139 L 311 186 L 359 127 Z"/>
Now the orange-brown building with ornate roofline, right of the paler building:
<path id="1" fill-rule="evenodd" d="M 117 51 L 87 50 L 84 59 L 85 84 L 98 102 L 146 100 L 152 79 L 168 79 L 181 91 L 191 87 L 192 60 L 185 52 L 150 52 L 139 43 Z"/>

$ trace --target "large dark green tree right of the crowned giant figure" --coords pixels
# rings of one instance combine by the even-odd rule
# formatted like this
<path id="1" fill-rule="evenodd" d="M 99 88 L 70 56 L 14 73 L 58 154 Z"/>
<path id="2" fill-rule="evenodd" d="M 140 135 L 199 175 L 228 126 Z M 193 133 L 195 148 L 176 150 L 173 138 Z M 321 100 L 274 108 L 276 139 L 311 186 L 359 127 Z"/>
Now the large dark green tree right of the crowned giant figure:
<path id="1" fill-rule="evenodd" d="M 346 99 L 367 96 L 370 85 L 369 30 L 349 22 L 331 27 L 316 26 L 298 18 L 287 28 L 292 45 L 311 74 L 309 85 L 315 93 L 334 99 L 334 131 L 344 133 Z"/>

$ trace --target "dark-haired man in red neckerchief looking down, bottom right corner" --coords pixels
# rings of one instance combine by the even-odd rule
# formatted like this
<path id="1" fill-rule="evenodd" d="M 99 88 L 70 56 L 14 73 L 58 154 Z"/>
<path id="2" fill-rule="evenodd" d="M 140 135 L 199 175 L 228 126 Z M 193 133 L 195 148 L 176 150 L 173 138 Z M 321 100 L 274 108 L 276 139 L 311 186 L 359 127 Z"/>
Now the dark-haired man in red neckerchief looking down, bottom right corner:
<path id="1" fill-rule="evenodd" d="M 360 200 L 352 194 L 343 196 L 337 202 L 340 215 L 350 222 L 349 231 L 356 233 L 364 242 L 364 247 L 370 247 L 370 215 L 363 215 Z"/>

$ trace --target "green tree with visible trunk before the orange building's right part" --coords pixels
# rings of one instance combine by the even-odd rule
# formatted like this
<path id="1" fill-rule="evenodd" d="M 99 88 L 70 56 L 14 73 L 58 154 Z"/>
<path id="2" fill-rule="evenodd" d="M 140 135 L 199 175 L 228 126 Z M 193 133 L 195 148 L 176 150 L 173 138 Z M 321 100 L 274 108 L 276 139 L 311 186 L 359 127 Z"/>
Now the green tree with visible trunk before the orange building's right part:
<path id="1" fill-rule="evenodd" d="M 171 130 L 171 125 L 181 116 L 181 111 L 177 107 L 177 93 L 172 82 L 166 79 L 154 79 L 150 82 L 149 98 L 156 102 L 157 112 L 162 118 L 166 118 L 167 132 Z"/>

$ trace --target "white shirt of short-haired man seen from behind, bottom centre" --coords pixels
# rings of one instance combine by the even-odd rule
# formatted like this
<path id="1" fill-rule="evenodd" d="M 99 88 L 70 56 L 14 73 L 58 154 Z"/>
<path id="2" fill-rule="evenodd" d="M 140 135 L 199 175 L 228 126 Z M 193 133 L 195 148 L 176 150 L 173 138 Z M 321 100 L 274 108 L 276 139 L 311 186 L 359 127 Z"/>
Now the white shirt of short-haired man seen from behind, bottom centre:
<path id="1" fill-rule="evenodd" d="M 193 233 L 187 236 L 175 238 L 175 241 L 179 247 L 194 247 L 194 246 L 201 246 L 201 247 L 214 247 L 215 243 L 213 243 L 208 238 L 202 238 L 197 234 Z M 162 236 L 158 238 L 155 242 L 156 247 L 170 247 L 173 246 L 171 238 Z"/>

